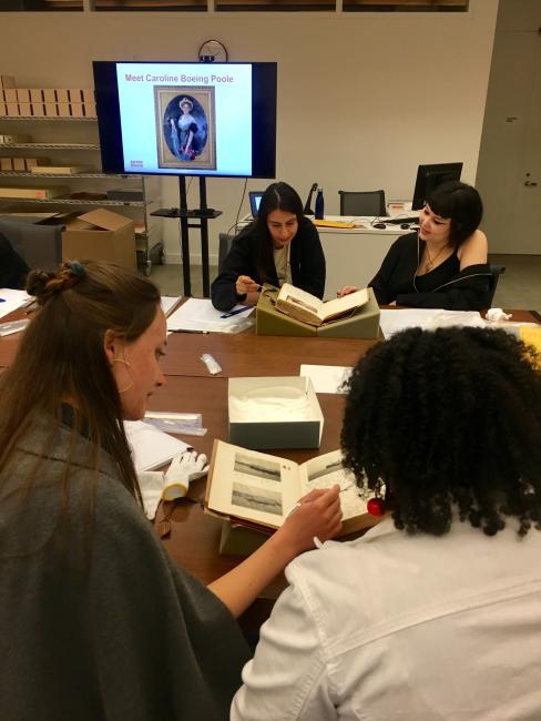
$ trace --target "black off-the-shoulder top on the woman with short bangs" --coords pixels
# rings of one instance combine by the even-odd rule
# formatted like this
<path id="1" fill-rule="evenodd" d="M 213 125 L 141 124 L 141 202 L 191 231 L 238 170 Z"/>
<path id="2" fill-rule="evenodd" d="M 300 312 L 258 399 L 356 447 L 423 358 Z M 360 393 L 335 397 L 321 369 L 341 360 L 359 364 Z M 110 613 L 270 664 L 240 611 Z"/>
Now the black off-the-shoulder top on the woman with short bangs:
<path id="1" fill-rule="evenodd" d="M 401 235 L 389 248 L 369 286 L 380 305 L 396 301 L 414 308 L 481 311 L 490 307 L 492 273 L 488 264 L 469 265 L 460 271 L 455 252 L 443 263 L 416 275 L 425 241 L 417 233 Z"/>

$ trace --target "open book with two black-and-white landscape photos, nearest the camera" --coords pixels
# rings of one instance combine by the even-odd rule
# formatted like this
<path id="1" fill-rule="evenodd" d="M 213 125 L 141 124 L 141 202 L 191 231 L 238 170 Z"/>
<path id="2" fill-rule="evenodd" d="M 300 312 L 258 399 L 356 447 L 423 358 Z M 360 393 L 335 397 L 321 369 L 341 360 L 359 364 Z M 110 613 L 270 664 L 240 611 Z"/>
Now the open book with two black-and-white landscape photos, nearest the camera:
<path id="1" fill-rule="evenodd" d="M 333 450 L 298 465 L 256 450 L 215 440 L 206 485 L 205 510 L 233 525 L 276 529 L 299 498 L 314 488 L 338 484 L 344 514 L 340 536 L 372 526 L 353 474 Z"/>

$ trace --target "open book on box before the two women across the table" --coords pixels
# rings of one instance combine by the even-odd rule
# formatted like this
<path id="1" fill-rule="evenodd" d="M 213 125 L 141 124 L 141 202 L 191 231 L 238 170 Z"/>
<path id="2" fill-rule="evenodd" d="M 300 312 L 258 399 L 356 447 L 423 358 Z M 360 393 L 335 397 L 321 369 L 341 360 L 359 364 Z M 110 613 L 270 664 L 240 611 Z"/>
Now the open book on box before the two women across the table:
<path id="1" fill-rule="evenodd" d="M 317 326 L 354 313 L 368 299 L 368 291 L 363 288 L 341 298 L 324 302 L 295 285 L 284 283 L 276 298 L 276 307 L 292 318 Z"/>

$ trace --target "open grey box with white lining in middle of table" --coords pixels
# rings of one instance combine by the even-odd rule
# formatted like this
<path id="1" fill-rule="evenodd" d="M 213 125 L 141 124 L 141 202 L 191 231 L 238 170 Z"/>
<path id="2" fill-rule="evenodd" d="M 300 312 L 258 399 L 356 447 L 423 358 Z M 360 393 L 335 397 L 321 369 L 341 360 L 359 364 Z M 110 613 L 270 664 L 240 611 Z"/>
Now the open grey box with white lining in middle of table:
<path id="1" fill-rule="evenodd" d="M 273 399 L 272 419 L 269 415 L 265 419 L 266 398 Z M 284 400 L 284 416 L 279 418 L 275 412 L 277 398 Z M 319 448 L 324 419 L 309 378 L 229 378 L 227 406 L 232 444 L 257 450 Z M 297 419 L 292 420 L 294 408 Z"/>

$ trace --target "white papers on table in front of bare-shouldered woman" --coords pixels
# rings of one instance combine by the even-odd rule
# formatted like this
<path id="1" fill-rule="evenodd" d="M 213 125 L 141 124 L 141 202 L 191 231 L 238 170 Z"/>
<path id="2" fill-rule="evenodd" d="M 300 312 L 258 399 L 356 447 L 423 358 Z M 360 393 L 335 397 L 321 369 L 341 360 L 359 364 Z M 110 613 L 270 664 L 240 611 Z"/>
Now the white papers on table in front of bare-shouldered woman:
<path id="1" fill-rule="evenodd" d="M 484 328 L 487 323 L 477 311 L 442 311 L 441 308 L 407 308 L 397 311 L 381 309 L 379 325 L 388 339 L 395 333 L 406 328 L 436 328 L 453 325 Z"/>

